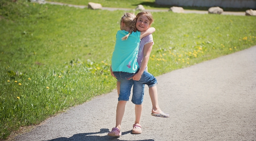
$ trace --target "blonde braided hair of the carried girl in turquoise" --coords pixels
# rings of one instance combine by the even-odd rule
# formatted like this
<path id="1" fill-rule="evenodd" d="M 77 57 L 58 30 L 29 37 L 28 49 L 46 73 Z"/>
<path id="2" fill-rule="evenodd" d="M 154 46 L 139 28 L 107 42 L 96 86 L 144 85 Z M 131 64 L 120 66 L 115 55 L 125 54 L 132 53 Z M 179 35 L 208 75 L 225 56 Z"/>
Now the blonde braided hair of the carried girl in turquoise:
<path id="1" fill-rule="evenodd" d="M 136 16 L 134 13 L 124 13 L 120 20 L 120 24 L 122 22 L 126 25 L 126 27 L 129 27 L 129 33 L 122 37 L 122 40 L 127 40 L 128 36 L 132 33 L 132 31 L 136 28 Z"/>

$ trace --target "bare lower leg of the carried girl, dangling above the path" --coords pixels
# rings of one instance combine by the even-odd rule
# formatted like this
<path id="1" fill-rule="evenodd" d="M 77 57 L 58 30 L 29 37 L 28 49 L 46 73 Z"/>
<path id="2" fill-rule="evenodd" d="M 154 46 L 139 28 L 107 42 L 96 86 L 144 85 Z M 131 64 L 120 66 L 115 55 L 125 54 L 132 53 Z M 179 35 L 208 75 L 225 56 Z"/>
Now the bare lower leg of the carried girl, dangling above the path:
<path id="1" fill-rule="evenodd" d="M 156 86 L 149 88 L 149 96 L 152 102 L 152 113 L 161 113 L 162 110 L 158 105 L 158 93 Z"/>

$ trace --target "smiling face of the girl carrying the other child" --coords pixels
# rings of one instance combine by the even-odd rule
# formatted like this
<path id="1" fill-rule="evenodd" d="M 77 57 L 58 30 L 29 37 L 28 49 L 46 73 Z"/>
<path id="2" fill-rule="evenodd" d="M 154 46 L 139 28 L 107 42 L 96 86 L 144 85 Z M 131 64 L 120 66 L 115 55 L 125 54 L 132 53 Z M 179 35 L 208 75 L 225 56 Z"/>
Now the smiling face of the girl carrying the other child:
<path id="1" fill-rule="evenodd" d="M 139 31 L 146 31 L 148 28 L 150 28 L 150 20 L 148 17 L 144 14 L 140 15 L 136 22 L 136 28 Z"/>

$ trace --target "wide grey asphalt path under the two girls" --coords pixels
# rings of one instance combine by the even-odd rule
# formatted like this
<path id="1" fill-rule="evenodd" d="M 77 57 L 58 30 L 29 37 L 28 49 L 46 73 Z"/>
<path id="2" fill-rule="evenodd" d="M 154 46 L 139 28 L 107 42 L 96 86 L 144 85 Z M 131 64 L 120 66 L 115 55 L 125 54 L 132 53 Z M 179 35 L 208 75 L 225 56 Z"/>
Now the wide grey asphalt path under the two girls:
<path id="1" fill-rule="evenodd" d="M 117 91 L 47 119 L 16 141 L 255 141 L 256 46 L 156 77 L 159 105 L 170 118 L 151 116 L 145 87 L 142 134 L 132 134 L 134 104 L 127 102 L 122 136 L 115 125 Z M 149 66 L 150 72 L 150 66 Z"/>

